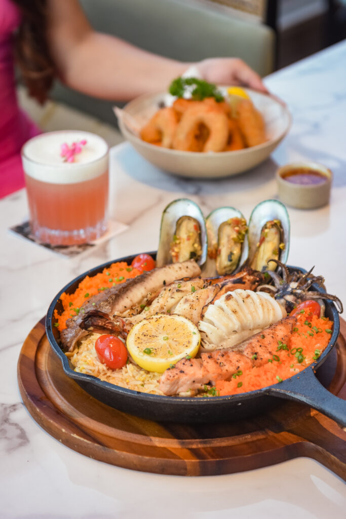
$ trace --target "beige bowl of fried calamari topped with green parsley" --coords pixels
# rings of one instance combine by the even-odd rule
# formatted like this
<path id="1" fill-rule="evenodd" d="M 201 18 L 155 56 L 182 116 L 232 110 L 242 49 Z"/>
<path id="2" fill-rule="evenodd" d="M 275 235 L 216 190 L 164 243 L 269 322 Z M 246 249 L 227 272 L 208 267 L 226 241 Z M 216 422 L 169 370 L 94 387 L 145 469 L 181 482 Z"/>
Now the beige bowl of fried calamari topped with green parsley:
<path id="1" fill-rule="evenodd" d="M 116 113 L 124 138 L 140 155 L 188 177 L 223 177 L 257 166 L 291 124 L 286 106 L 270 95 L 196 78 L 177 78 L 169 93 L 144 95 Z"/>

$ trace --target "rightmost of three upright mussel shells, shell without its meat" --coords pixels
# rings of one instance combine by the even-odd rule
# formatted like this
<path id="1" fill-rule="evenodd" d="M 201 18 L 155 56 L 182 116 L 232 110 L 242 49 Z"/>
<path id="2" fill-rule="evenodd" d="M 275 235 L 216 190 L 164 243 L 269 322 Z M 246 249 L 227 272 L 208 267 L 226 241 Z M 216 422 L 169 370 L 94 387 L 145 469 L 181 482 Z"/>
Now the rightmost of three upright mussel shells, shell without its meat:
<path id="1" fill-rule="evenodd" d="M 286 207 L 279 200 L 264 200 L 257 204 L 251 213 L 248 223 L 248 245 L 249 252 L 247 265 L 251 265 L 254 259 L 257 243 L 260 238 L 263 226 L 270 220 L 280 220 L 282 227 L 282 242 L 285 244 L 283 250 L 280 249 L 279 260 L 282 263 L 287 262 L 289 252 L 289 216 Z"/>

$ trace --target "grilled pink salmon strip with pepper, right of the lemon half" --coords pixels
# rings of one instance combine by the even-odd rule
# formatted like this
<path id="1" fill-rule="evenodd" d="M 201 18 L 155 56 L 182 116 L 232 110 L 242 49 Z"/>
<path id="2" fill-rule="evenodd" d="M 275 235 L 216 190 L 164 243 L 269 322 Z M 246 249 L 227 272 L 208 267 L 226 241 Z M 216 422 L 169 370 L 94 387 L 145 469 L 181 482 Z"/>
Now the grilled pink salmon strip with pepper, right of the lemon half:
<path id="1" fill-rule="evenodd" d="M 166 370 L 160 378 L 160 390 L 167 395 L 201 389 L 216 380 L 230 380 L 237 371 L 244 371 L 268 362 L 279 341 L 289 347 L 295 317 L 286 317 L 233 348 L 201 354 L 200 359 L 182 359 Z"/>

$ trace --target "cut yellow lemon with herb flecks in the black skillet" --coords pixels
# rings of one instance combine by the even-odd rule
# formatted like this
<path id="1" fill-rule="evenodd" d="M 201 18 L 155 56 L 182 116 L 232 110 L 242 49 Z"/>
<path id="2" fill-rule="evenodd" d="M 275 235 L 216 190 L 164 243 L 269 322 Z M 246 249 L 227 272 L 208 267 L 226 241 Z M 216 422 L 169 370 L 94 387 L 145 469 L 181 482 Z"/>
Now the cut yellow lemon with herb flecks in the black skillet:
<path id="1" fill-rule="evenodd" d="M 133 326 L 126 346 L 139 366 L 163 373 L 183 357 L 196 357 L 200 342 L 200 333 L 192 321 L 157 313 Z"/>

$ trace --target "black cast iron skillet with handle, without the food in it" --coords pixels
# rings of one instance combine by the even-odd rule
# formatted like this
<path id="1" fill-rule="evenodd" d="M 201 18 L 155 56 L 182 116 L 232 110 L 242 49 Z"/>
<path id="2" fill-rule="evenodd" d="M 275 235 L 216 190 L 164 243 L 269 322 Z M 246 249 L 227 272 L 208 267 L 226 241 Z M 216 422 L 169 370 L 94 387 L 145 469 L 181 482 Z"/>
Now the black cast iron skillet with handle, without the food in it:
<path id="1" fill-rule="evenodd" d="M 154 258 L 156 257 L 156 253 L 149 254 Z M 60 357 L 66 375 L 73 378 L 82 389 L 101 402 L 119 409 L 119 411 L 157 421 L 197 423 L 239 420 L 240 418 L 258 414 L 269 407 L 277 405 L 278 398 L 276 397 L 279 397 L 281 399 L 298 400 L 299 402 L 306 403 L 330 418 L 333 418 L 342 426 L 346 426 L 346 401 L 331 394 L 320 384 L 314 375 L 314 370 L 323 364 L 333 349 L 339 335 L 339 314 L 335 305 L 331 302 L 326 302 L 326 317 L 334 321 L 334 328 L 329 344 L 323 351 L 321 357 L 305 368 L 305 370 L 284 380 L 282 383 L 256 391 L 228 395 L 226 397 L 166 397 L 125 389 L 109 384 L 108 382 L 103 382 L 92 375 L 73 371 L 71 362 L 61 349 L 59 331 L 53 326 L 53 323 L 56 321 L 54 318 L 54 310 L 57 309 L 59 313 L 62 311 L 60 301 L 61 294 L 63 292 L 74 292 L 78 283 L 85 278 L 85 276 L 98 274 L 98 272 L 101 272 L 105 267 L 110 266 L 110 264 L 115 261 L 131 263 L 134 257 L 134 255 L 127 256 L 119 260 L 107 262 L 81 274 L 64 286 L 59 294 L 54 297 L 49 306 L 46 318 L 46 333 L 49 343 Z M 303 269 L 297 267 L 289 267 L 289 269 L 305 272 Z M 316 290 L 316 287 L 314 287 L 314 290 Z"/>

